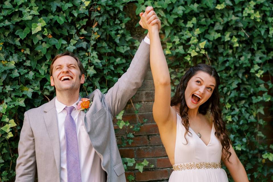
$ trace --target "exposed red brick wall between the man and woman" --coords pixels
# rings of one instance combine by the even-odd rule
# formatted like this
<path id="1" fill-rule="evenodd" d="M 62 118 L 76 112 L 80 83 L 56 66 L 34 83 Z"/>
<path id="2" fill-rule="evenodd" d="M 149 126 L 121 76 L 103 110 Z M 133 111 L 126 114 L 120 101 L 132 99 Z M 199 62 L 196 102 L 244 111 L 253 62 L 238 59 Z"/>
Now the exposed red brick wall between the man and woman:
<path id="1" fill-rule="evenodd" d="M 132 144 L 120 148 L 119 152 L 123 157 L 135 158 L 136 162 L 142 162 L 144 159 L 149 162 L 148 166 L 144 167 L 142 173 L 134 167 L 128 166 L 129 170 L 126 172 L 126 175 L 133 175 L 136 181 L 166 182 L 171 175 L 172 169 L 165 148 L 160 140 L 158 127 L 152 116 L 154 101 L 154 82 L 152 79 L 152 73 L 149 70 L 141 88 L 138 89 L 132 98 L 134 105 L 136 103 L 142 105 L 138 109 L 140 121 L 143 121 L 143 119 L 148 120 L 141 127 L 140 131 L 135 133 Z M 129 101 L 125 107 L 123 120 L 128 120 L 130 124 L 137 122 L 137 116 L 131 101 Z M 114 120 L 114 122 L 116 121 Z M 115 125 L 115 128 L 118 127 Z M 116 133 L 118 144 L 121 144 L 121 136 L 123 136 L 125 132 L 125 129 L 123 129 Z M 130 132 L 130 129 L 127 132 Z"/>

